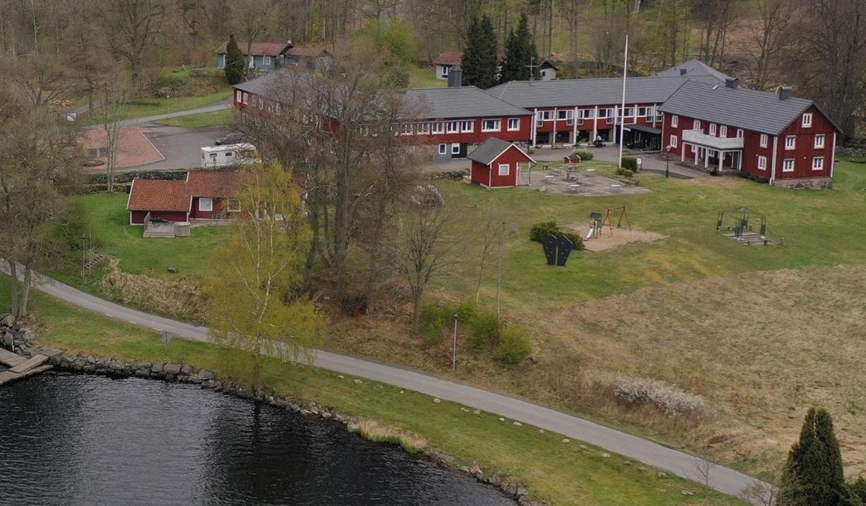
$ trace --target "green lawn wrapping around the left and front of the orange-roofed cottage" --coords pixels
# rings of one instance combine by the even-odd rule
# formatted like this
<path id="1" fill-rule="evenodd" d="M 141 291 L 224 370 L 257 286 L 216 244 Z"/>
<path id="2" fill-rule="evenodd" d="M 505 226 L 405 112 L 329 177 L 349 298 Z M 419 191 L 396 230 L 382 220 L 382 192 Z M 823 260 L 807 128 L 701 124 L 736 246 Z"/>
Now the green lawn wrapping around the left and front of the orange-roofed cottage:
<path id="1" fill-rule="evenodd" d="M 142 237 L 144 227 L 129 225 L 126 194 L 75 197 L 87 215 L 87 226 L 102 253 L 120 259 L 120 269 L 152 276 L 182 275 L 196 278 L 208 268 L 210 252 L 223 240 L 223 227 L 197 227 L 190 237 L 173 239 Z M 167 272 L 169 267 L 178 274 Z"/>

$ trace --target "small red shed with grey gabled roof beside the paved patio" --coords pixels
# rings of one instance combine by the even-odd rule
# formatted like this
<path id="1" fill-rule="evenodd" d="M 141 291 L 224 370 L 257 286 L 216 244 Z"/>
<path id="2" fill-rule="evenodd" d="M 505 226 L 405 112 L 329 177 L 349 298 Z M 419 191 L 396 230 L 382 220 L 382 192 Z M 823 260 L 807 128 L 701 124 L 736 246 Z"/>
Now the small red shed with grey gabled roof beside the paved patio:
<path id="1" fill-rule="evenodd" d="M 469 153 L 472 183 L 488 188 L 509 188 L 520 184 L 520 163 L 535 163 L 516 145 L 488 138 Z"/>

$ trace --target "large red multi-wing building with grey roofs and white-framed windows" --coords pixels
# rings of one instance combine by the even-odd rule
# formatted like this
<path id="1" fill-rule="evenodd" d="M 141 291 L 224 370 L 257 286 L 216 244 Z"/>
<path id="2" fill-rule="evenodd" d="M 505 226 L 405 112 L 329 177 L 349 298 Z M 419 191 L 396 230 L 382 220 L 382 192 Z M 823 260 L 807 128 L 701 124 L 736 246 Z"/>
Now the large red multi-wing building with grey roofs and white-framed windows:
<path id="1" fill-rule="evenodd" d="M 272 107 L 268 96 L 283 69 L 235 86 L 241 112 Z M 533 147 L 618 143 L 667 151 L 702 170 L 742 172 L 771 184 L 824 186 L 833 176 L 837 125 L 808 99 L 740 86 L 692 60 L 650 77 L 511 81 L 488 90 L 459 86 L 409 89 L 423 111 L 395 125 L 396 135 L 434 147 L 436 157 L 466 157 L 488 138 Z M 456 81 L 456 82 L 455 82 Z M 305 80 L 294 80 L 303 83 Z M 418 104 L 423 107 L 418 108 Z"/>

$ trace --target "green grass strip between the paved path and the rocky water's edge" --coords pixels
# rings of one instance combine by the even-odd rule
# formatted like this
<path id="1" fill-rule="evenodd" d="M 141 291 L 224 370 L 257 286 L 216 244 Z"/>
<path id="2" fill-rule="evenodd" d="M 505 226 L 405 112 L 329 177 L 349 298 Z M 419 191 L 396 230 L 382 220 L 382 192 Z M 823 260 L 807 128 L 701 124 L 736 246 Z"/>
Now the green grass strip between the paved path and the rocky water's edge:
<path id="1" fill-rule="evenodd" d="M 8 304 L 9 279 L 0 277 L 0 304 Z M 33 310 L 39 341 L 94 355 L 135 360 L 191 362 L 244 379 L 249 363 L 233 354 L 230 362 L 212 345 L 178 339 L 166 351 L 158 333 L 116 323 L 75 309 L 41 293 L 34 294 Z M 262 381 L 281 394 L 317 400 L 346 413 L 378 420 L 414 432 L 457 459 L 457 464 L 481 464 L 525 481 L 529 489 L 551 504 L 741 504 L 732 497 L 701 490 L 679 478 L 659 480 L 652 469 L 624 464 L 614 455 L 602 458 L 597 448 L 565 445 L 561 437 L 541 434 L 529 426 L 515 427 L 493 414 L 475 415 L 450 402 L 435 404 L 430 397 L 365 381 L 355 385 L 329 371 L 268 360 Z M 643 466 L 642 466 L 643 467 Z M 681 490 L 698 490 L 692 497 Z"/>

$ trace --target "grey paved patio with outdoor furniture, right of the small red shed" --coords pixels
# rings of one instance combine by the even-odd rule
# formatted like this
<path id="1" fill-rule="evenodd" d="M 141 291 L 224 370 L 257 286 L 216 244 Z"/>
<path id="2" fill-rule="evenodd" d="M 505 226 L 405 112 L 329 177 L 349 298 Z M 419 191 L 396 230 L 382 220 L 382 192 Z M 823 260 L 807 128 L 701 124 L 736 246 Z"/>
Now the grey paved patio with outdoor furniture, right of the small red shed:
<path id="1" fill-rule="evenodd" d="M 561 195 L 637 195 L 650 191 L 636 184 L 601 176 L 595 169 L 547 168 L 532 170 L 528 175 L 520 174 L 520 181 L 528 183 L 522 188 Z"/>

